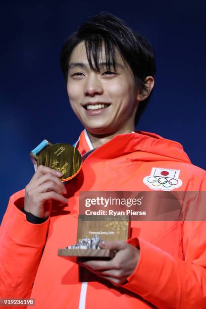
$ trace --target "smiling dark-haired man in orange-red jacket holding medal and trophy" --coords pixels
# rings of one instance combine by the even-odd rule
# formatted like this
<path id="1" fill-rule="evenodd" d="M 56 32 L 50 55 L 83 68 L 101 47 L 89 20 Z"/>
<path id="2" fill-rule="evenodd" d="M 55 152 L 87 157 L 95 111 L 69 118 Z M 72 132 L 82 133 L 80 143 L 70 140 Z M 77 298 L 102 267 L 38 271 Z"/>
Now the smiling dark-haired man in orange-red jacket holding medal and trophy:
<path id="1" fill-rule="evenodd" d="M 81 155 L 95 150 L 66 186 L 61 173 L 40 166 L 11 197 L 1 228 L 1 297 L 35 298 L 36 308 L 204 308 L 205 222 L 131 222 L 128 242 L 101 244 L 116 250 L 115 258 L 81 268 L 57 256 L 76 242 L 80 190 L 205 190 L 205 172 L 179 143 L 134 132 L 156 71 L 144 38 L 98 14 L 66 41 L 61 67 L 85 127 L 76 147 Z M 153 169 L 178 176 L 158 182 Z M 81 280 L 82 267 L 95 277 Z"/>

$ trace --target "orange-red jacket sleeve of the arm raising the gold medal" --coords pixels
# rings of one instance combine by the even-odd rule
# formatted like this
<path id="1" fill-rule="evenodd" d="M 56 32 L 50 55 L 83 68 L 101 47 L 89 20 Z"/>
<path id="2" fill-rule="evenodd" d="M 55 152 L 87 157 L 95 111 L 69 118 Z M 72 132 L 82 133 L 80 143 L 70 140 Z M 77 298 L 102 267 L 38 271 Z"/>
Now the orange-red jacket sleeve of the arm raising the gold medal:
<path id="1" fill-rule="evenodd" d="M 24 192 L 11 196 L 0 228 L 0 298 L 29 298 L 46 242 L 49 219 L 26 220 Z"/>

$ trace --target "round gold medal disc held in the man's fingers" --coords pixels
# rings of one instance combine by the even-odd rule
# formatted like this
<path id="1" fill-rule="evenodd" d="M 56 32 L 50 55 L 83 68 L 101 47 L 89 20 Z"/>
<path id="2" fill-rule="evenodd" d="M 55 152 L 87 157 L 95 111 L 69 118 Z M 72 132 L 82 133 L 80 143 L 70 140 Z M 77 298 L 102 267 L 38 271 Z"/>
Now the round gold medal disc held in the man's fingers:
<path id="1" fill-rule="evenodd" d="M 61 180 L 68 181 L 75 177 L 82 164 L 80 152 L 69 144 L 54 144 L 42 150 L 37 159 L 37 166 L 44 165 L 62 172 Z"/>

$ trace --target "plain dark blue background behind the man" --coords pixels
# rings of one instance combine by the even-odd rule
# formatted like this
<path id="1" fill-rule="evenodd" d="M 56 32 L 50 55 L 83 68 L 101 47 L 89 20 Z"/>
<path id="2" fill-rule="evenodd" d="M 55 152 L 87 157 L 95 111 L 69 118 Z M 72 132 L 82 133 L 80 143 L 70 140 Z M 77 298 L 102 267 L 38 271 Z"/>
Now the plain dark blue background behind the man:
<path id="1" fill-rule="evenodd" d="M 203 1 L 37 1 L 1 5 L 1 217 L 9 196 L 33 174 L 29 152 L 42 139 L 74 143 L 73 115 L 59 66 L 66 37 L 108 11 L 146 36 L 158 73 L 138 125 L 183 144 L 205 168 L 205 5 Z"/>

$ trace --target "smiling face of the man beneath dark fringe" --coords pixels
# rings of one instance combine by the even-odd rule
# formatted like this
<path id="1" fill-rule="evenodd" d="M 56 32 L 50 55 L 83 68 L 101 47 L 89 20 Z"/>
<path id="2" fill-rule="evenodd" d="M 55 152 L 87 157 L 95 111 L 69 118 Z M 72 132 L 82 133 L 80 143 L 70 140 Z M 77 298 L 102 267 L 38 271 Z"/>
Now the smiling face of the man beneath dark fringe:
<path id="1" fill-rule="evenodd" d="M 67 92 L 71 107 L 88 132 L 110 134 L 134 129 L 138 107 L 133 73 L 121 56 L 116 56 L 116 72 L 107 71 L 104 50 L 100 72 L 89 67 L 84 42 L 73 50 L 68 71 Z M 124 132 L 122 132 L 124 133 Z"/>

